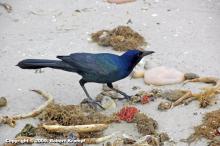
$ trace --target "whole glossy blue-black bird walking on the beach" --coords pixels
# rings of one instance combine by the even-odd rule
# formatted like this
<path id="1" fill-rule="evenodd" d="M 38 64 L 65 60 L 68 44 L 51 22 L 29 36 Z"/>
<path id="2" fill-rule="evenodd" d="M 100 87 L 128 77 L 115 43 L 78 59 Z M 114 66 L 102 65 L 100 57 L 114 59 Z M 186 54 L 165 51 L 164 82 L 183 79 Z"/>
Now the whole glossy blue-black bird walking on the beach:
<path id="1" fill-rule="evenodd" d="M 129 50 L 121 56 L 109 53 L 73 53 L 69 56 L 57 56 L 60 60 L 25 59 L 20 61 L 17 66 L 22 69 L 50 67 L 69 72 L 76 72 L 82 76 L 79 84 L 87 96 L 86 102 L 101 107 L 99 103 L 90 97 L 84 86 L 85 83 L 106 83 L 109 88 L 129 99 L 130 96 L 115 89 L 112 83 L 127 77 L 144 56 L 152 53 L 154 52 L 139 50 Z"/>

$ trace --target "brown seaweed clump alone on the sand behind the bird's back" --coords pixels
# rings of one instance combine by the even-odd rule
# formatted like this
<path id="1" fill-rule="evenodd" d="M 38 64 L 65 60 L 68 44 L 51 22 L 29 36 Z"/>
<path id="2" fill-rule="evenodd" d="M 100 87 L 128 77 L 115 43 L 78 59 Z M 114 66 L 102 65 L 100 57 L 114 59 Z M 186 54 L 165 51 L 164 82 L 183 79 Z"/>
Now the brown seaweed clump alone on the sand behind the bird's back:
<path id="1" fill-rule="evenodd" d="M 116 51 L 143 50 L 144 38 L 129 26 L 118 26 L 113 30 L 100 30 L 91 34 L 92 40 L 100 46 L 112 46 Z"/>

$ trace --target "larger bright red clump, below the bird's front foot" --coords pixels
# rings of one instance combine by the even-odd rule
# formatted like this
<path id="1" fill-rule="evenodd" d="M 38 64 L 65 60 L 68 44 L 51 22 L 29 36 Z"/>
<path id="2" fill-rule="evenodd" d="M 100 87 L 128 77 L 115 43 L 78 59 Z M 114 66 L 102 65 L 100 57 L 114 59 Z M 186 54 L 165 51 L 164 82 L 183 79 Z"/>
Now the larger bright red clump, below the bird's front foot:
<path id="1" fill-rule="evenodd" d="M 120 120 L 131 122 L 133 120 L 135 114 L 138 112 L 139 112 L 139 110 L 136 107 L 123 107 L 117 113 L 117 116 L 120 118 Z"/>

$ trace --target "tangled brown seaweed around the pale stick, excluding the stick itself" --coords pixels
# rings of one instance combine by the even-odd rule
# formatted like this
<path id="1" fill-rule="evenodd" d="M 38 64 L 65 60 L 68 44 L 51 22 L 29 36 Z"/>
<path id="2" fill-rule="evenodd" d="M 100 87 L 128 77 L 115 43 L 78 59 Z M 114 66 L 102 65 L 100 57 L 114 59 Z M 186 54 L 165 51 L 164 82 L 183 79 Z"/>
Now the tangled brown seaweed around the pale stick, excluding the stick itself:
<path id="1" fill-rule="evenodd" d="M 110 124 L 118 121 L 114 114 L 107 116 L 99 112 L 86 113 L 80 105 L 60 104 L 50 104 L 41 115 L 39 115 L 39 119 L 42 121 L 42 124 L 37 128 L 37 135 L 47 138 L 63 138 L 67 137 L 68 133 L 48 131 L 43 127 L 43 124 L 71 126 L 99 123 Z M 103 132 L 81 133 L 80 138 L 97 137 L 102 134 Z"/>

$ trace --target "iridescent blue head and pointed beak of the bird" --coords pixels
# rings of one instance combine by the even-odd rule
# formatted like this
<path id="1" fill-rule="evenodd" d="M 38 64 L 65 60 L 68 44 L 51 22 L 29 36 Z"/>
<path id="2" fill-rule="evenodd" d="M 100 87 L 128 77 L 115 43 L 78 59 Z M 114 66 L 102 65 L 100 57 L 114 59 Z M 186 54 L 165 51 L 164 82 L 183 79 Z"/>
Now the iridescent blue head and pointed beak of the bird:
<path id="1" fill-rule="evenodd" d="M 122 54 L 121 57 L 126 61 L 126 63 L 128 63 L 129 68 L 133 69 L 144 56 L 152 53 L 154 53 L 154 51 L 128 50 Z"/>

